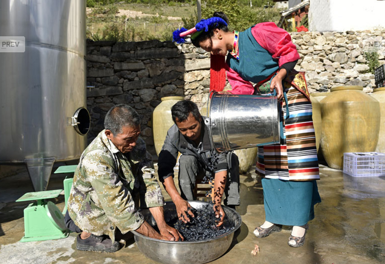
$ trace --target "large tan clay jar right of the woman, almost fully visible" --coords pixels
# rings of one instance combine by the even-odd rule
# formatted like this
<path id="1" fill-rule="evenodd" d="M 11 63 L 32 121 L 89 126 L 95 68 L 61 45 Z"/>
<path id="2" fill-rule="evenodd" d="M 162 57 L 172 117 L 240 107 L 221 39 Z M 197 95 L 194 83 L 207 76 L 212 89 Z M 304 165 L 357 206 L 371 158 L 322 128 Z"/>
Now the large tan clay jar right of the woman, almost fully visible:
<path id="1" fill-rule="evenodd" d="M 343 153 L 375 151 L 380 104 L 362 86 L 331 88 L 321 101 L 321 148 L 329 167 L 341 169 Z"/>

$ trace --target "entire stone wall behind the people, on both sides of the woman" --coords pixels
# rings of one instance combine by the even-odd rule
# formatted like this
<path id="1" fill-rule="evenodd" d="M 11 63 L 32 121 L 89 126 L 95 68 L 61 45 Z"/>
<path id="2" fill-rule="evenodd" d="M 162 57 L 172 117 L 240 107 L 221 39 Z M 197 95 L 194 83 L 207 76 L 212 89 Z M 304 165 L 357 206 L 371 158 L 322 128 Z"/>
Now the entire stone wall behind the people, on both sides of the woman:
<path id="1" fill-rule="evenodd" d="M 310 92 L 342 85 L 361 85 L 370 92 L 374 87 L 374 75 L 366 73 L 364 41 L 384 42 L 384 30 L 291 35 L 301 57 L 296 69 L 306 70 Z M 384 54 L 380 55 L 382 64 Z M 103 130 L 104 117 L 112 106 L 129 104 L 141 115 L 142 137 L 154 154 L 152 111 L 162 97 L 175 95 L 201 107 L 210 88 L 210 58 L 192 44 L 87 42 L 87 86 L 94 87 L 87 88 L 88 140 Z"/>

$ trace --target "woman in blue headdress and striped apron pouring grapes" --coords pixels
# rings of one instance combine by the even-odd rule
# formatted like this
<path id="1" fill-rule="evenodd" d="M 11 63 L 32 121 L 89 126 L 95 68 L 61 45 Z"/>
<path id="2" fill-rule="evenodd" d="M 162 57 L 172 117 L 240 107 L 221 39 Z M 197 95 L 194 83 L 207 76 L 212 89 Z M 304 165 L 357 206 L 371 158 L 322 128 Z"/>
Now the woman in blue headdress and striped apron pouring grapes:
<path id="1" fill-rule="evenodd" d="M 265 222 L 254 234 L 264 238 L 289 225 L 293 230 L 288 244 L 302 246 L 308 221 L 314 219 L 314 205 L 321 198 L 316 182 L 320 176 L 312 105 L 304 73 L 294 70 L 299 60 L 296 46 L 273 22 L 231 32 L 222 12 L 215 12 L 214 17 L 190 30 L 174 31 L 174 41 L 183 43 L 187 35 L 191 35 L 192 44 L 212 55 L 227 55 L 223 67 L 232 86 L 229 93 L 275 90 L 281 100 L 281 142 L 258 148 L 256 172 L 262 177 Z"/>

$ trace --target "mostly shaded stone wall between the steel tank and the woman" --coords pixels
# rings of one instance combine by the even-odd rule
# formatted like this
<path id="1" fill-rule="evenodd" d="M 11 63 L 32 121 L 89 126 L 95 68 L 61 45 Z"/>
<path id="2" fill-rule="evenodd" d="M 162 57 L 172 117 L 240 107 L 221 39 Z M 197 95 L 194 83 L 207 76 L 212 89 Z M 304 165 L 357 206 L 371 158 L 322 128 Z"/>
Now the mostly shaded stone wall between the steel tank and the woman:
<path id="1" fill-rule="evenodd" d="M 104 129 L 112 106 L 129 104 L 141 115 L 142 138 L 154 154 L 151 115 L 161 98 L 184 96 L 199 106 L 207 100 L 210 58 L 191 44 L 88 41 L 86 58 L 89 142 Z"/>

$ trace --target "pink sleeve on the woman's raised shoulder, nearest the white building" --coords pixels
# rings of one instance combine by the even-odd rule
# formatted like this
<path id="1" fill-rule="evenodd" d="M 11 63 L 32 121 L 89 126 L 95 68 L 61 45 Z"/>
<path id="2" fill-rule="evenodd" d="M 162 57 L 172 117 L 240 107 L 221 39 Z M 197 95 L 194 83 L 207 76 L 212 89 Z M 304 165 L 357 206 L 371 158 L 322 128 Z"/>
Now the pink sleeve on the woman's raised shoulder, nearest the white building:
<path id="1" fill-rule="evenodd" d="M 278 59 L 279 67 L 299 60 L 296 45 L 292 43 L 289 33 L 274 22 L 256 24 L 252 27 L 251 33 L 258 44 L 273 54 L 273 59 Z"/>

